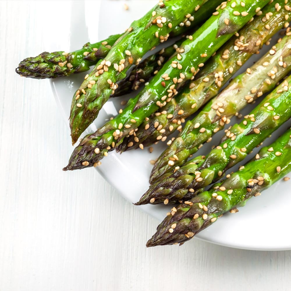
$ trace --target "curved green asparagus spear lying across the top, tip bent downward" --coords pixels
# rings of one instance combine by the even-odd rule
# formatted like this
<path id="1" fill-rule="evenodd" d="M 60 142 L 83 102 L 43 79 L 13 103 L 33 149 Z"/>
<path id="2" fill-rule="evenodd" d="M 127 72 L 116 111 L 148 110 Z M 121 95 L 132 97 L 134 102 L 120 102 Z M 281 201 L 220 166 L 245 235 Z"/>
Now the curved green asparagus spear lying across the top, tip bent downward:
<path id="1" fill-rule="evenodd" d="M 189 26 L 191 21 L 197 24 L 205 20 L 207 13 L 203 11 L 199 13 L 200 9 L 198 8 L 207 1 L 159 2 L 159 5 L 130 25 L 127 32 L 113 45 L 106 60 L 100 60 L 96 64 L 93 71 L 86 75 L 85 80 L 74 94 L 70 114 L 73 144 L 97 117 L 109 96 L 114 94 L 117 87 L 116 82 L 125 78 L 129 67 L 133 63 L 138 64 L 143 55 L 152 47 L 166 41 L 169 33 L 175 26 L 183 23 L 185 17 L 187 19 L 185 25 L 189 22 Z M 207 11 L 209 6 L 210 8 L 215 7 L 218 2 L 218 0 L 209 1 L 207 8 L 202 7 L 201 9 Z M 197 13 L 197 11 L 199 12 Z"/>

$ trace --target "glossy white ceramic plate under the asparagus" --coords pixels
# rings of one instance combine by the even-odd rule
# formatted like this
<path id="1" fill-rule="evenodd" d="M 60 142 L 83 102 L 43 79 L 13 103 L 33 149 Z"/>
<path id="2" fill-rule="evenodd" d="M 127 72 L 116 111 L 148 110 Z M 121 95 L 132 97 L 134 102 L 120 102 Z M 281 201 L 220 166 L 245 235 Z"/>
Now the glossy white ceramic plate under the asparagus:
<path id="1" fill-rule="evenodd" d="M 89 6 L 89 4 L 92 5 L 92 1 L 72 1 L 71 26 L 70 31 L 68 30 L 70 47 L 68 45 L 67 49 L 70 48 L 70 51 L 79 49 L 80 45 L 87 41 L 96 42 L 111 34 L 124 31 L 124 29 L 129 27 L 132 20 L 141 17 L 156 2 L 157 0 L 94 1 L 95 9 L 92 11 Z M 128 10 L 124 9 L 124 3 L 127 3 L 129 6 Z M 96 17 L 98 15 L 96 11 L 99 6 L 99 17 Z M 74 17 L 73 11 L 78 11 L 78 17 Z M 115 16 L 115 20 L 109 21 L 109 17 L 112 17 L 112 15 Z M 98 33 L 96 27 L 98 27 Z M 56 47 L 56 50 L 61 49 L 65 48 Z M 259 56 L 262 56 L 267 49 L 267 47 L 264 47 L 262 49 L 263 52 Z M 249 67 L 257 58 L 258 56 L 251 58 L 240 72 Z M 77 90 L 79 84 L 81 84 L 85 74 L 51 81 L 56 102 L 63 111 L 67 123 L 70 115 L 72 95 Z M 125 99 L 125 97 L 110 99 L 100 111 L 94 124 L 87 129 L 86 134 L 94 132 L 97 127 L 101 126 L 111 116 L 116 116 L 118 110 L 122 108 L 120 105 L 121 100 Z M 250 107 L 242 113 L 246 114 L 249 111 Z M 234 118 L 233 122 L 237 122 L 237 120 Z M 286 129 L 288 126 L 290 126 L 290 123 L 283 127 Z M 283 129 L 279 129 L 279 132 L 283 132 Z M 276 132 L 273 136 L 278 136 L 279 132 Z M 199 155 L 206 154 L 211 145 L 218 144 L 222 134 L 223 132 L 217 134 L 213 143 L 205 145 L 200 150 Z M 270 138 L 266 143 L 271 143 L 272 141 L 272 138 Z M 156 145 L 151 154 L 147 148 L 144 150 L 131 150 L 122 155 L 110 152 L 108 157 L 102 159 L 102 165 L 97 167 L 97 171 L 116 187 L 127 200 L 136 202 L 149 186 L 148 178 L 152 168 L 149 161 L 156 159 L 164 147 L 165 143 Z M 70 154 L 68 152 L 68 159 Z M 70 172 L 68 172 L 68 175 L 70 175 Z M 288 187 L 291 185 L 290 183 L 291 180 L 289 182 L 277 182 L 271 188 L 264 191 L 261 196 L 252 198 L 245 207 L 239 208 L 238 213 L 224 215 L 213 226 L 199 233 L 195 238 L 242 249 L 291 249 L 290 214 L 288 212 L 289 207 L 287 206 L 291 205 L 291 195 L 290 190 L 288 190 Z M 166 212 L 171 208 L 165 205 L 143 205 L 139 207 L 160 221 L 164 219 Z M 155 233 L 155 229 L 152 230 L 152 233 Z M 189 243 L 194 243 L 194 239 L 191 242 L 187 242 L 187 244 Z"/>

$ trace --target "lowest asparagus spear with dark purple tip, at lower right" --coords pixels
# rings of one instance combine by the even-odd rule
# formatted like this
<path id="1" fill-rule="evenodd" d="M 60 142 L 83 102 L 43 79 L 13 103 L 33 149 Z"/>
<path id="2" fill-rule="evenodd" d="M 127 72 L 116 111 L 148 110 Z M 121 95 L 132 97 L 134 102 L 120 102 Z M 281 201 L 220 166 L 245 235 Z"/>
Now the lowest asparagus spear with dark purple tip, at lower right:
<path id="1" fill-rule="evenodd" d="M 246 201 L 291 171 L 291 135 L 285 132 L 230 177 L 189 201 L 173 207 L 147 246 L 183 244 L 224 213 Z"/>

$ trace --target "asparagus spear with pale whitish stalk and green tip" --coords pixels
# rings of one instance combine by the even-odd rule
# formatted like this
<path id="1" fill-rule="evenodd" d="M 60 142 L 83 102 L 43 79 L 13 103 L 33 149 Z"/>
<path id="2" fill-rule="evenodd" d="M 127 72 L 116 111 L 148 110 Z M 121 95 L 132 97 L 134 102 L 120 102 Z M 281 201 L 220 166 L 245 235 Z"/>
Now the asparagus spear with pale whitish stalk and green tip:
<path id="1" fill-rule="evenodd" d="M 163 173 L 181 166 L 203 143 L 211 141 L 212 135 L 223 129 L 232 116 L 274 88 L 291 70 L 291 67 L 287 66 L 291 62 L 290 44 L 291 37 L 285 36 L 189 120 L 179 136 L 158 158 L 152 169 L 150 182 L 155 182 Z M 169 160 L 173 155 L 178 157 L 178 161 Z"/>

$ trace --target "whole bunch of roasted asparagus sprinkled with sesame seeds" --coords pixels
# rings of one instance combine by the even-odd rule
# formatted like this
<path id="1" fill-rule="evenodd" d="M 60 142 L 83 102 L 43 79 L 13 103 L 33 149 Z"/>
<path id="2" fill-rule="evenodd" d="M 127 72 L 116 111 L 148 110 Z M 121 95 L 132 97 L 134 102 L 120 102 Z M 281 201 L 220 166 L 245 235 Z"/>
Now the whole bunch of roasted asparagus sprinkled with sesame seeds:
<path id="1" fill-rule="evenodd" d="M 63 170 L 99 166 L 109 151 L 143 149 L 178 130 L 152 170 L 152 185 L 136 205 L 182 203 L 168 212 L 147 246 L 183 244 L 291 170 L 288 131 L 238 172 L 204 191 L 291 117 L 291 77 L 286 78 L 291 70 L 290 16 L 287 0 L 159 0 L 125 33 L 71 53 L 26 58 L 16 72 L 34 79 L 56 78 L 95 65 L 72 100 L 73 144 L 109 97 L 143 87 L 115 118 L 80 141 Z M 223 88 L 282 28 L 285 36 Z M 174 45 L 142 60 L 146 52 L 176 36 L 180 40 Z M 279 84 L 282 78 L 286 79 Z M 241 123 L 225 130 L 218 146 L 187 161 L 233 116 L 272 89 Z M 201 107 L 182 129 L 185 119 Z"/>

